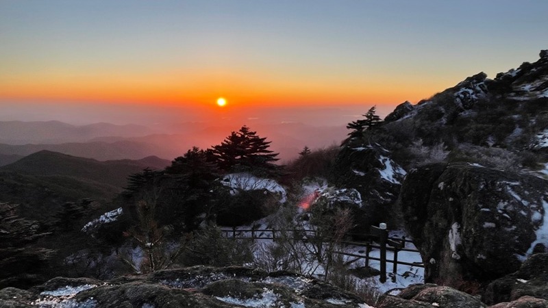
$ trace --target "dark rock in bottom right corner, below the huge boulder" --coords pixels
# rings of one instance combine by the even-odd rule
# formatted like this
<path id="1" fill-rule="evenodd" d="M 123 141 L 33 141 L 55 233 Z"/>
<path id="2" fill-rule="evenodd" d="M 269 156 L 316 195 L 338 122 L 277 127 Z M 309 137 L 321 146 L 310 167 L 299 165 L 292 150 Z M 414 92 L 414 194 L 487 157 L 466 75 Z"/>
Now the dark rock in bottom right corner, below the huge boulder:
<path id="1" fill-rule="evenodd" d="M 523 296 L 542 298 L 543 301 L 530 300 Z M 516 300 L 545 303 L 545 305 L 548 303 L 548 253 L 532 255 L 518 271 L 490 283 L 484 294 L 484 301 L 489 304 Z M 497 308 L 499 307 L 505 306 L 497 305 Z"/>

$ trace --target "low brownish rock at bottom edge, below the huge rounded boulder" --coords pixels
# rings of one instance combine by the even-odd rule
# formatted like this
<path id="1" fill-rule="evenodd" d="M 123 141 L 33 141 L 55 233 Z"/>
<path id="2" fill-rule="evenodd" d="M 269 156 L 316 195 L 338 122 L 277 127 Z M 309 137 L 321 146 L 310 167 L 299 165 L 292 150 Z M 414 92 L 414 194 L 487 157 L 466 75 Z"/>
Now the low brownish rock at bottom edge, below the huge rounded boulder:
<path id="1" fill-rule="evenodd" d="M 377 308 L 484 308 L 486 305 L 475 296 L 451 287 L 439 285 L 411 285 L 399 295 L 384 294 Z"/>

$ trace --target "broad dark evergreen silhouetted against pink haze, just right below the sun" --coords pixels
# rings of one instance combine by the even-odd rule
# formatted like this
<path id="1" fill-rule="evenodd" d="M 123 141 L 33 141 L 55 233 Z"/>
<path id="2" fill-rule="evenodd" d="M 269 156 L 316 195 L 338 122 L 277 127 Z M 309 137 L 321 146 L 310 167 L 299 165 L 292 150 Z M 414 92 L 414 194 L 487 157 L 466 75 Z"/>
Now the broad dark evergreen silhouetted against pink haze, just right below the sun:
<path id="1" fill-rule="evenodd" d="M 271 142 L 260 138 L 249 127 L 232 131 L 221 144 L 210 150 L 210 159 L 224 172 L 251 172 L 256 175 L 277 176 L 281 166 L 274 164 L 278 153 L 269 150 Z"/>

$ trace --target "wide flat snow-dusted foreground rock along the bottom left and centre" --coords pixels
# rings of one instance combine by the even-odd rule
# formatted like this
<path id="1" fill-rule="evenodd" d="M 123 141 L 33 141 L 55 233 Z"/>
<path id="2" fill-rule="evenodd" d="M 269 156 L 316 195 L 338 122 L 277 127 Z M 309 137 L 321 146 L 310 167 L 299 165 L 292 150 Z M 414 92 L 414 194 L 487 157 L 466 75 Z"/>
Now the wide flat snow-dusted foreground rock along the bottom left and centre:
<path id="1" fill-rule="evenodd" d="M 359 307 L 332 285 L 288 272 L 197 266 L 111 281 L 51 279 L 0 290 L 0 307 Z M 366 307 L 362 305 L 362 307 Z"/>

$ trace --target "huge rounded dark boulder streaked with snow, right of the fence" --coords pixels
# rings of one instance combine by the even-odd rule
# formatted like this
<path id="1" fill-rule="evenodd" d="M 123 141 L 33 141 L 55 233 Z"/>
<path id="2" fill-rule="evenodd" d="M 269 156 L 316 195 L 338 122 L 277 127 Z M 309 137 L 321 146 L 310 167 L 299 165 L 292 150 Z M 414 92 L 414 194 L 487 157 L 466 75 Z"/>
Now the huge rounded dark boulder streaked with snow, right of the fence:
<path id="1" fill-rule="evenodd" d="M 476 164 L 412 170 L 400 205 L 425 281 L 489 281 L 548 246 L 548 181 Z"/>

